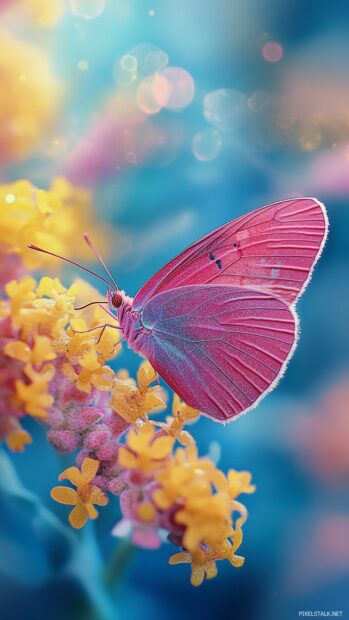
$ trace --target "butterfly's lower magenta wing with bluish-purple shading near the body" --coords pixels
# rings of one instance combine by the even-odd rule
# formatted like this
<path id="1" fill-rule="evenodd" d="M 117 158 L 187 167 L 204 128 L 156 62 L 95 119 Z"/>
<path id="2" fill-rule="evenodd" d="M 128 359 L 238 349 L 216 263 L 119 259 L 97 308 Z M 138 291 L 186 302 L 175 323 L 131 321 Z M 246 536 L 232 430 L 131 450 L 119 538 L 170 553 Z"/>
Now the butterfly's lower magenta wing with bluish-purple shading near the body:
<path id="1" fill-rule="evenodd" d="M 273 295 L 224 285 L 183 286 L 144 307 L 142 353 L 192 407 L 220 422 L 270 391 L 296 341 L 292 308 Z"/>

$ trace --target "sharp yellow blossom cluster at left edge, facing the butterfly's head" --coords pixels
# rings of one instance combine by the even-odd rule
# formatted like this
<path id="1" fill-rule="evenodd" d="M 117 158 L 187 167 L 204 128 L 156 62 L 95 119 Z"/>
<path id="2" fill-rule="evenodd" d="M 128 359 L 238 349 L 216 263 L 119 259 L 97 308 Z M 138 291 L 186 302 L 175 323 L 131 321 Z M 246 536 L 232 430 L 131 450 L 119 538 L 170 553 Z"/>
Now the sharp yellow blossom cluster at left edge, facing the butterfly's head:
<path id="1" fill-rule="evenodd" d="M 92 287 L 78 280 L 66 289 L 57 278 L 43 277 L 37 284 L 26 276 L 19 282 L 9 282 L 6 293 L 8 299 L 0 303 L 0 319 L 10 319 L 16 336 L 7 339 L 3 353 L 8 358 L 9 371 L 10 360 L 16 363 L 17 375 L 20 365 L 22 376 L 14 381 L 12 400 L 24 413 L 46 416 L 54 402 L 49 384 L 55 377 L 58 357 L 63 356 L 63 374 L 79 390 L 112 387 L 114 373 L 105 362 L 120 349 L 119 332 L 108 329 L 108 334 L 105 332 L 99 339 L 100 330 L 86 330 L 105 322 L 104 311 L 94 306 L 83 320 L 74 309 L 78 293 L 79 299 L 86 299 L 85 295 L 96 298 Z M 15 440 L 18 439 L 16 435 Z M 15 443 L 12 439 L 12 445 Z"/>

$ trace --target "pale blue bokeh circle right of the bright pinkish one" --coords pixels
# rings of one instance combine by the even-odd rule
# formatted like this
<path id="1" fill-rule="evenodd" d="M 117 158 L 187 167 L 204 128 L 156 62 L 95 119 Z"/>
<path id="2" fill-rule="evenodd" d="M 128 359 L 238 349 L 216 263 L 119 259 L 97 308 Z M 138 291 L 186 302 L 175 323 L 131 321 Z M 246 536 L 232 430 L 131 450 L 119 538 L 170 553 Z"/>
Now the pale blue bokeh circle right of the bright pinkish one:
<path id="1" fill-rule="evenodd" d="M 248 113 L 247 97 L 238 90 L 214 90 L 204 97 L 204 116 L 220 131 L 233 131 Z"/>

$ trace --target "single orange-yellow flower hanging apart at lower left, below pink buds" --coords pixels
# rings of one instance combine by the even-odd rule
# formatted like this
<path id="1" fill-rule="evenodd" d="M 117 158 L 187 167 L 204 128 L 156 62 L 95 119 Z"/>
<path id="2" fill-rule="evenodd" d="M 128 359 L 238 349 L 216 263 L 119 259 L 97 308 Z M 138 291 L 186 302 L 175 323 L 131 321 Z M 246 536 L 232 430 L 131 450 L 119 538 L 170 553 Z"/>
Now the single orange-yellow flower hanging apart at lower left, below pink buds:
<path id="1" fill-rule="evenodd" d="M 106 506 L 108 498 L 94 484 L 91 484 L 96 477 L 99 467 L 99 461 L 95 459 L 85 458 L 81 471 L 77 467 L 68 467 L 63 471 L 59 480 L 69 480 L 75 489 L 70 487 L 54 487 L 51 491 L 51 497 L 61 504 L 74 506 L 68 519 L 74 528 L 81 528 L 85 525 L 88 518 L 96 519 L 98 512 L 94 507 Z"/>

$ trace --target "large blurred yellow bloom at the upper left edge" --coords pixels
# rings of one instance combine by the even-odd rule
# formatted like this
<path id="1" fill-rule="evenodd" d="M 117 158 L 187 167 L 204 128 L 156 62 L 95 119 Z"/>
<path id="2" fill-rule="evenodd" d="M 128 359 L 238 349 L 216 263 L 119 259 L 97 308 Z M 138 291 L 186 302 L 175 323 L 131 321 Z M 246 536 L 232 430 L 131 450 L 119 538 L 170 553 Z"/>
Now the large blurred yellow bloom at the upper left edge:
<path id="1" fill-rule="evenodd" d="M 56 117 L 61 86 L 43 50 L 5 31 L 0 31 L 0 75 L 0 163 L 8 164 L 39 146 Z"/>

